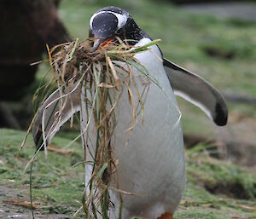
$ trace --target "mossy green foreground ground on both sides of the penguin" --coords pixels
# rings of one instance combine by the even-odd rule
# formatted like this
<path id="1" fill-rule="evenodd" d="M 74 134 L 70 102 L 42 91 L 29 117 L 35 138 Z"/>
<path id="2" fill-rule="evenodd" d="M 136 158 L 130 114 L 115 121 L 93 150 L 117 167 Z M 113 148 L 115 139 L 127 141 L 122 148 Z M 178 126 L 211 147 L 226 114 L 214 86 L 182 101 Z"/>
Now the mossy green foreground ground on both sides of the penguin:
<path id="1" fill-rule="evenodd" d="M 23 206 L 24 201 L 29 201 L 29 169 L 23 171 L 34 153 L 31 136 L 15 160 L 24 135 L 21 131 L 0 130 L 0 210 L 12 209 L 14 200 Z M 55 137 L 53 143 L 64 147 L 69 141 Z M 202 148 L 199 145 L 187 153 L 188 185 L 175 218 L 256 218 L 256 176 L 210 158 Z M 39 206 L 36 218 L 70 218 L 81 206 L 84 171 L 82 165 L 72 168 L 83 160 L 81 144 L 75 143 L 69 149 L 72 151 L 66 155 L 49 152 L 46 159 L 40 153 L 36 159 L 32 174 L 33 199 Z M 19 218 L 30 218 L 30 210 L 15 210 L 24 216 Z"/>

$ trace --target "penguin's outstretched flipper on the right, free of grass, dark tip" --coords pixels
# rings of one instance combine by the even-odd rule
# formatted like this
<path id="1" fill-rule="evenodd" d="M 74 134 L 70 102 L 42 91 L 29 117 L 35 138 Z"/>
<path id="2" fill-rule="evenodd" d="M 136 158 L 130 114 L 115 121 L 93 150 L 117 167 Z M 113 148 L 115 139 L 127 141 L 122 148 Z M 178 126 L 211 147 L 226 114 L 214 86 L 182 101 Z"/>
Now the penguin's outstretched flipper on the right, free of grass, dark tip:
<path id="1" fill-rule="evenodd" d="M 227 124 L 228 107 L 212 84 L 166 59 L 163 65 L 175 95 L 200 107 L 215 124 Z"/>

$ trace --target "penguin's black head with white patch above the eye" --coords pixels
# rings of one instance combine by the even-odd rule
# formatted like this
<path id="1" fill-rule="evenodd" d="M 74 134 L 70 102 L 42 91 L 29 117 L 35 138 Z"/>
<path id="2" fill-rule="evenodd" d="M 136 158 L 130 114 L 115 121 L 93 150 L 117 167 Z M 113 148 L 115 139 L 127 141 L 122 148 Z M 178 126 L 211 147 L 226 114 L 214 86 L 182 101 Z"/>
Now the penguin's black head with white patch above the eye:
<path id="1" fill-rule="evenodd" d="M 90 18 L 89 37 L 98 38 L 93 45 L 94 50 L 112 37 L 119 37 L 134 45 L 145 36 L 148 37 L 124 9 L 106 7 L 96 11 Z"/>

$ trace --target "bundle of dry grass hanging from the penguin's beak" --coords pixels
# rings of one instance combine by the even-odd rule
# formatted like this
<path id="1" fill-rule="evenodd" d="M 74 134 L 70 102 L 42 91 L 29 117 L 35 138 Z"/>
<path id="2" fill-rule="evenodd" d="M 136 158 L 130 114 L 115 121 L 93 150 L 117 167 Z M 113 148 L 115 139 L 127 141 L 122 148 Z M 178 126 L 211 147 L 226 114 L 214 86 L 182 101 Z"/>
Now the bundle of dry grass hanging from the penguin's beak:
<path id="1" fill-rule="evenodd" d="M 90 147 L 87 147 L 94 161 L 90 178 L 90 193 L 86 193 L 86 188 L 83 193 L 83 209 L 86 218 L 96 218 L 98 211 L 101 211 L 103 218 L 108 218 L 108 209 L 111 206 L 108 189 L 111 176 L 118 168 L 118 162 L 113 158 L 114 146 L 111 141 L 116 124 L 114 109 L 125 89 L 127 90 L 125 95 L 128 95 L 132 108 L 132 123 L 130 127 L 127 127 L 130 134 L 136 125 L 139 112 L 141 112 L 143 121 L 143 102 L 147 93 L 148 81 L 153 81 L 155 84 L 157 82 L 154 78 L 150 78 L 147 70 L 137 62 L 134 55 L 147 50 L 149 46 L 159 43 L 159 41 L 155 40 L 144 46 L 131 48 L 116 38 L 101 45 L 100 49 L 92 51 L 90 40 L 79 42 L 77 39 L 75 42 L 57 45 L 49 50 L 49 64 L 53 77 L 49 84 L 43 86 L 44 90 L 49 90 L 49 86 L 53 87 L 52 84 L 58 87 L 60 93 L 67 87 L 71 88 L 69 90 L 79 89 L 80 101 L 86 103 L 87 125 L 84 130 L 81 130 L 82 134 L 85 133 L 86 145 L 89 144 L 88 127 L 94 125 L 93 128 L 96 130 L 96 145 L 90 146 L 94 148 L 92 151 L 95 153 L 92 154 Z M 143 92 L 138 89 L 132 69 L 137 69 L 137 72 L 147 79 Z M 131 89 L 131 85 L 133 89 Z M 45 94 L 47 96 L 47 92 Z M 135 95 L 138 102 L 135 102 Z M 58 97 L 60 100 L 63 97 L 63 100 L 60 101 L 62 106 L 60 108 L 64 108 L 67 101 L 72 101 L 66 98 L 67 96 L 68 93 L 64 94 L 63 92 L 63 95 Z M 61 114 L 61 110 L 59 114 Z M 56 123 L 58 123 L 58 119 L 58 117 L 55 118 Z M 43 135 L 47 126 L 45 125 L 42 125 Z M 44 141 L 46 137 L 43 136 Z M 47 151 L 45 142 L 41 147 Z M 85 151 L 84 147 L 84 158 L 86 157 Z M 119 193 L 121 202 L 122 191 Z"/>

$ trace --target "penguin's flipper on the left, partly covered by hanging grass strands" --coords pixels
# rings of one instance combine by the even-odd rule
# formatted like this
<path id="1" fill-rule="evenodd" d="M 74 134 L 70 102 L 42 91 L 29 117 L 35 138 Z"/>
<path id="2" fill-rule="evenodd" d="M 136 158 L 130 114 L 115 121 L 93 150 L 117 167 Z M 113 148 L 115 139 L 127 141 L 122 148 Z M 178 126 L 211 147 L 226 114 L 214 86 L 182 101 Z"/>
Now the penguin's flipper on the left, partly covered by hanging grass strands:
<path id="1" fill-rule="evenodd" d="M 56 89 L 38 108 L 32 126 L 33 140 L 37 149 L 44 150 L 49 141 L 75 112 L 80 110 L 79 84 Z M 43 136 L 44 134 L 44 136 Z M 45 142 L 46 145 L 43 145 Z"/>

